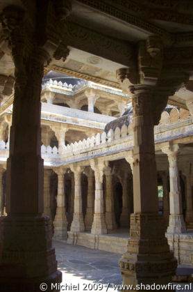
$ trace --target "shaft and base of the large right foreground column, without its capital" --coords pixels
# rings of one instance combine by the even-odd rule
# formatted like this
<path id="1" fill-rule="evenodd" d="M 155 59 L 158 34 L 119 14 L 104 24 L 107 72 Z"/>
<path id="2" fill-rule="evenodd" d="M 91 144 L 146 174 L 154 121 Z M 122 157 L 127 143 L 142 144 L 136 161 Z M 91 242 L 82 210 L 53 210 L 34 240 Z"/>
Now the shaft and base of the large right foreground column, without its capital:
<path id="1" fill-rule="evenodd" d="M 171 281 L 176 260 L 169 252 L 165 224 L 158 214 L 158 186 L 151 89 L 136 86 L 133 97 L 133 201 L 128 249 L 119 261 L 124 284 Z M 158 229 L 159 226 L 159 229 Z M 166 268 L 167 263 L 167 268 Z M 162 270 L 162 279 L 160 279 Z"/>

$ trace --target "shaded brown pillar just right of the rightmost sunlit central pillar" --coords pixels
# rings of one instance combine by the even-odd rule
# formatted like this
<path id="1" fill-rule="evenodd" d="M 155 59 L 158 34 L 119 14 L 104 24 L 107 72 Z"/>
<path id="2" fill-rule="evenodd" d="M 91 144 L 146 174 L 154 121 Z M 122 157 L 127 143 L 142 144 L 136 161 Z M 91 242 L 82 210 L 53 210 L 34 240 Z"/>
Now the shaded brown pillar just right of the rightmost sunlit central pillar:
<path id="1" fill-rule="evenodd" d="M 106 226 L 108 230 L 112 230 L 117 229 L 112 189 L 112 169 L 110 167 L 106 167 L 104 174 L 106 175 Z"/>

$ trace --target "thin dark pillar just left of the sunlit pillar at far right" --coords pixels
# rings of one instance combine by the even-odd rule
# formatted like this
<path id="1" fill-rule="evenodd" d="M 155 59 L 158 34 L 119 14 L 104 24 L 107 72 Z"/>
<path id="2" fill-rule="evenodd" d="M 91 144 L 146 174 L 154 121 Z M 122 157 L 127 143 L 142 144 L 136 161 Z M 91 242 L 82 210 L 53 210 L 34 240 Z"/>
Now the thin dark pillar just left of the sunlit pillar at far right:
<path id="1" fill-rule="evenodd" d="M 160 172 L 162 178 L 163 187 L 163 216 L 165 218 L 165 224 L 168 226 L 169 222 L 169 190 L 167 187 L 167 173 L 165 171 Z"/>

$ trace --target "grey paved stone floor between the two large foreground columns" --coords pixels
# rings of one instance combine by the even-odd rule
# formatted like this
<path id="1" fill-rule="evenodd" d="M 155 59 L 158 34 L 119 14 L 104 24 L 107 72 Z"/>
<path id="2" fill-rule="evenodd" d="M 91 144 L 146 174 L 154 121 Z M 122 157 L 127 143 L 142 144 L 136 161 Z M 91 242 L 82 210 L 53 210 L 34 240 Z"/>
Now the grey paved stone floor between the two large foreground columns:
<path id="1" fill-rule="evenodd" d="M 62 272 L 61 291 L 119 291 L 116 285 L 122 282 L 118 267 L 120 254 L 68 245 L 56 240 L 53 245 L 56 248 L 58 269 Z M 181 266 L 178 272 L 186 274 L 192 272 L 192 269 Z M 193 291 L 193 283 L 190 289 L 181 284 L 181 289 L 176 291 Z"/>

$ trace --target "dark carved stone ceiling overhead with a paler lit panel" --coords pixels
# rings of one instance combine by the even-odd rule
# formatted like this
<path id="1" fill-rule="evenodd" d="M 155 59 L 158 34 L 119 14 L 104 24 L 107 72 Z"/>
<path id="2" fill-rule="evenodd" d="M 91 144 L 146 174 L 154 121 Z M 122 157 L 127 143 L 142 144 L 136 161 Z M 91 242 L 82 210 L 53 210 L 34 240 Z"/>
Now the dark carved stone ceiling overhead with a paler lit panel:
<path id="1" fill-rule="evenodd" d="M 3 0 L 0 11 L 9 4 L 27 8 L 28 1 Z M 31 10 L 29 14 L 32 13 Z M 178 66 L 193 76 L 192 15 L 192 0 L 74 0 L 67 29 L 63 32 L 69 56 L 65 61 L 51 61 L 45 73 L 56 70 L 120 89 L 116 70 L 128 66 L 140 40 L 156 34 L 165 45 L 165 68 Z M 54 43 L 59 32 L 53 19 L 47 32 Z M 0 26 L 0 75 L 13 76 L 13 72 L 10 51 Z M 193 97 L 188 86 L 173 95 L 171 103 L 186 108 L 187 95 Z"/>

